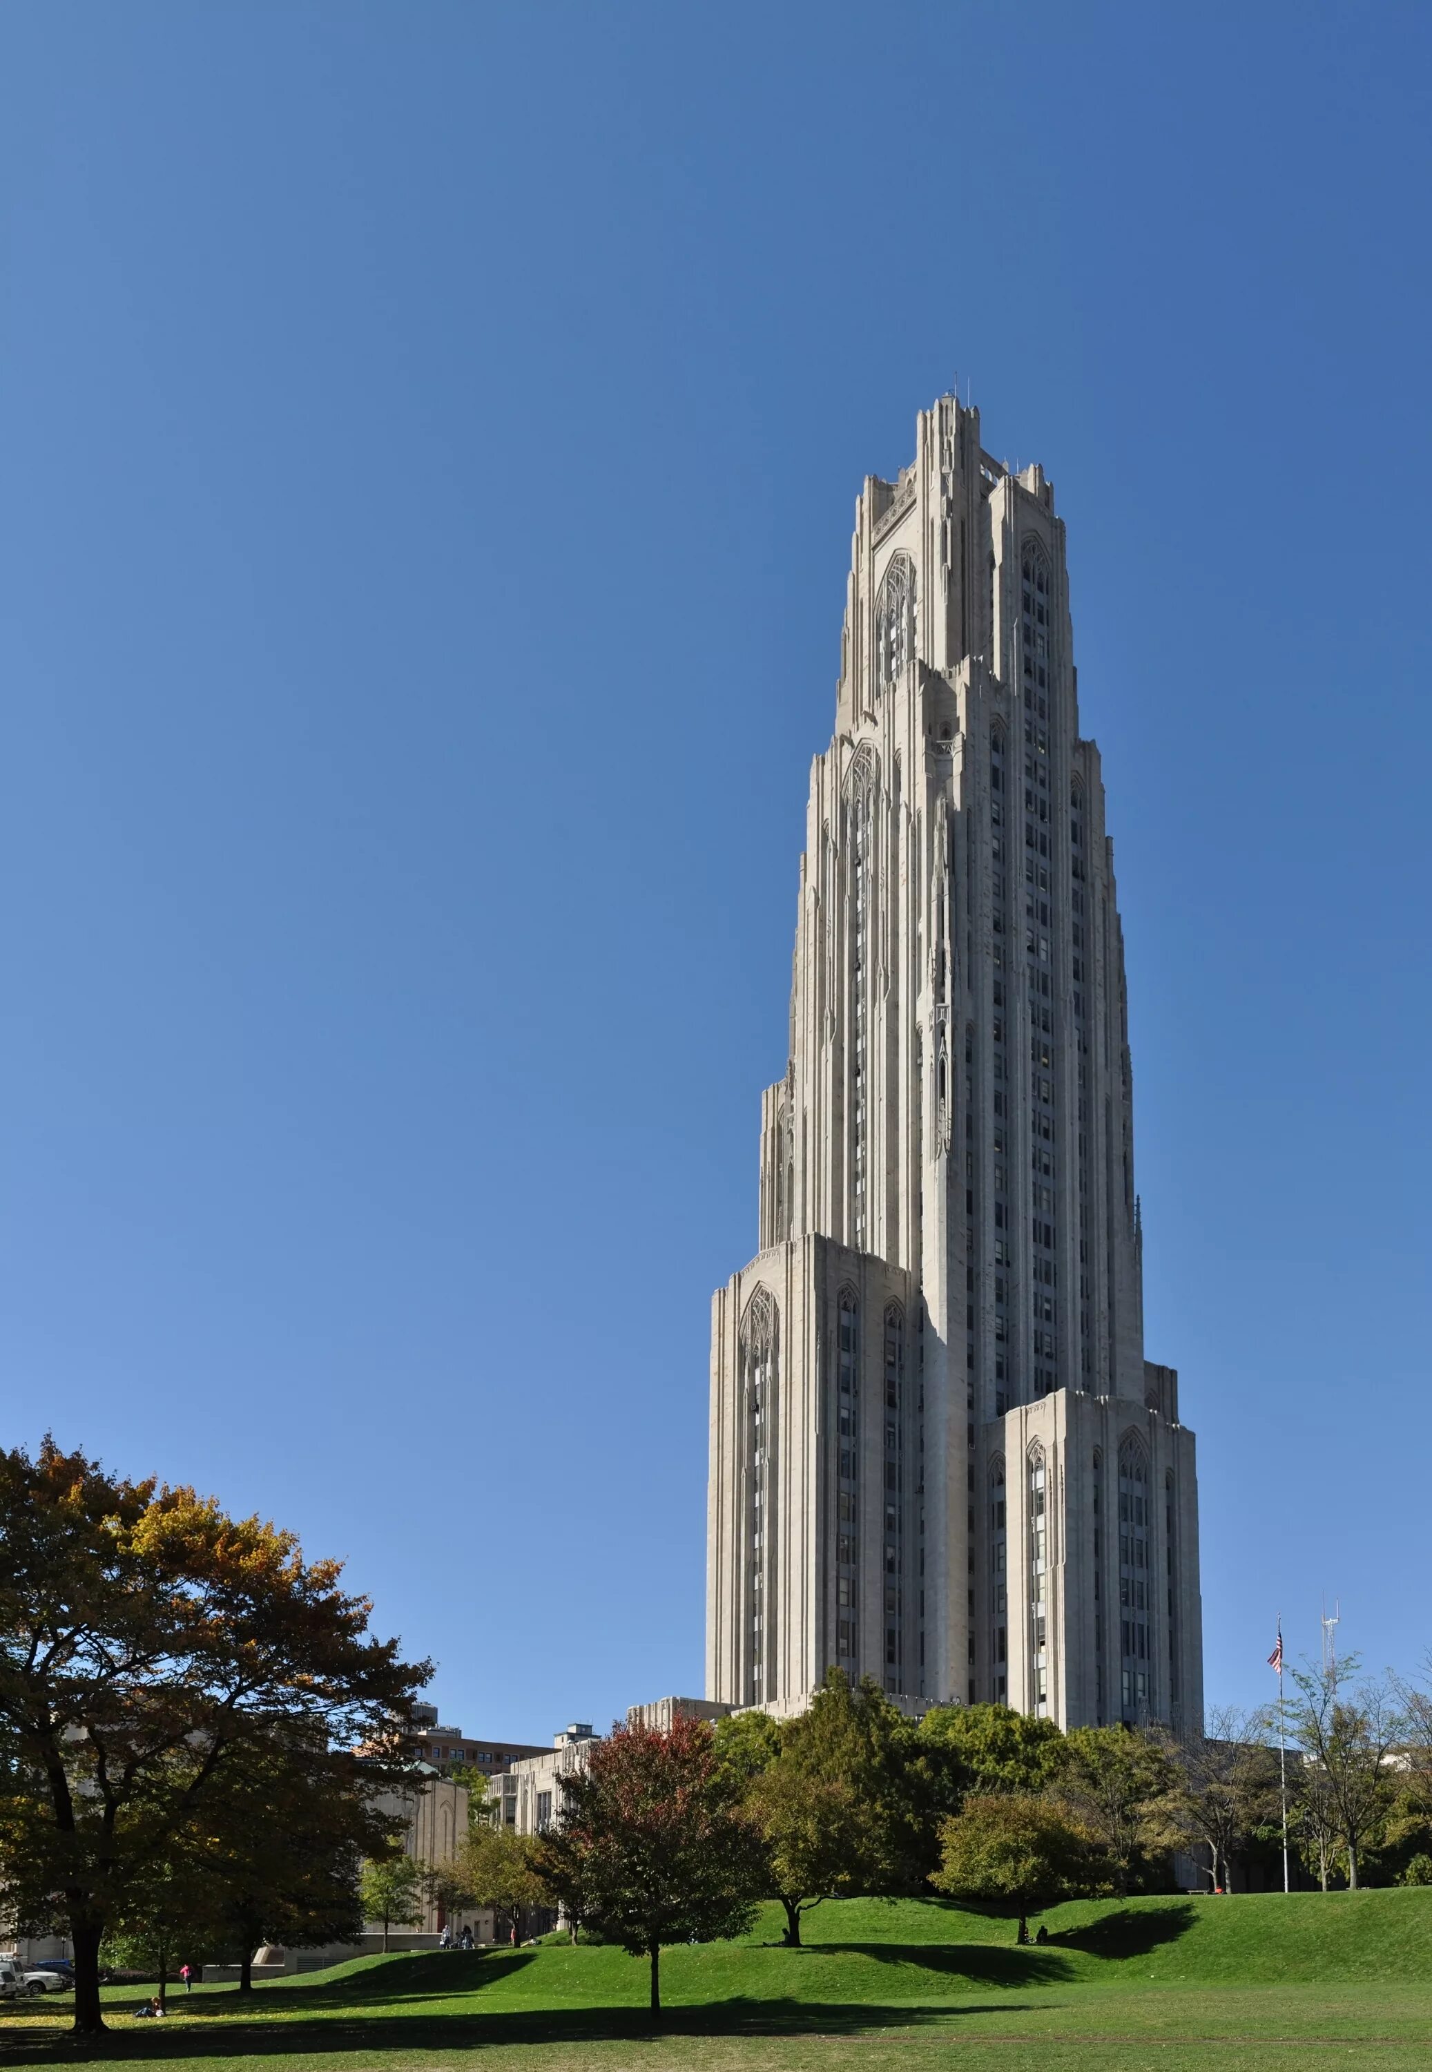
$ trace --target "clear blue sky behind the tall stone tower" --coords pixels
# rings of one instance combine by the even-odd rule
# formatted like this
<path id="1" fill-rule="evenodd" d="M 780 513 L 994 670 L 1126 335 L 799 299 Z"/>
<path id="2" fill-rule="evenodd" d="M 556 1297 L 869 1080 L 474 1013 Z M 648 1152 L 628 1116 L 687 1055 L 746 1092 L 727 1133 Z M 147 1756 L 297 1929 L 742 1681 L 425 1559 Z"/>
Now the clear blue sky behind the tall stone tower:
<path id="1" fill-rule="evenodd" d="M 1212 1699 L 1426 1608 L 1432 17 L 12 0 L 0 1430 L 698 1691 L 852 503 L 1069 522 Z"/>

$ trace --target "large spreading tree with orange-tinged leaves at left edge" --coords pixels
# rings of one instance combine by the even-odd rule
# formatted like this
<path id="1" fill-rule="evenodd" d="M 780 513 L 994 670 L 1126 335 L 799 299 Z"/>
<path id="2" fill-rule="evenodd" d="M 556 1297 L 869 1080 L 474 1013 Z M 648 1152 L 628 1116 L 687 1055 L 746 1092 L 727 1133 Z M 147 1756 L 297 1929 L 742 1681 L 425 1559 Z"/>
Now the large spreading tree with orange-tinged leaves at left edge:
<path id="1" fill-rule="evenodd" d="M 0 1861 L 21 1921 L 66 1923 L 77 2033 L 104 2028 L 106 1929 L 276 1722 L 371 1788 L 402 1778 L 429 1666 L 369 1610 L 338 1562 L 193 1490 L 52 1440 L 0 1452 Z"/>

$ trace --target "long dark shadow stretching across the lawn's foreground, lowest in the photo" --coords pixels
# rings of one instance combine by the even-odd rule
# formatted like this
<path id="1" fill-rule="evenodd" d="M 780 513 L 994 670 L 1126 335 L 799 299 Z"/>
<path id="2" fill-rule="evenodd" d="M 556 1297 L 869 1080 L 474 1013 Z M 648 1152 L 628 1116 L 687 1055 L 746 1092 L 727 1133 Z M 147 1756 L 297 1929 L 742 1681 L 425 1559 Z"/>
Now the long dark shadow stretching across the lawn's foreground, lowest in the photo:
<path id="1" fill-rule="evenodd" d="M 1018 2002 L 951 2002 L 939 2008 L 875 2006 L 868 2002 L 721 1999 L 709 2006 L 665 2008 L 655 2020 L 645 2008 L 504 2010 L 491 2014 L 406 2014 L 363 2020 L 259 2020 L 199 2018 L 164 2024 L 120 2022 L 106 2037 L 77 2039 L 50 2033 L 10 2047 L 0 2037 L 0 2066 L 48 2064 L 164 2064 L 174 2057 L 300 2057 L 352 2051 L 369 2062 L 385 2051 L 481 2051 L 514 2043 L 642 2043 L 671 2037 L 860 2037 L 875 2028 L 928 2028 L 955 2024 L 966 2014 L 1022 2012 Z"/>

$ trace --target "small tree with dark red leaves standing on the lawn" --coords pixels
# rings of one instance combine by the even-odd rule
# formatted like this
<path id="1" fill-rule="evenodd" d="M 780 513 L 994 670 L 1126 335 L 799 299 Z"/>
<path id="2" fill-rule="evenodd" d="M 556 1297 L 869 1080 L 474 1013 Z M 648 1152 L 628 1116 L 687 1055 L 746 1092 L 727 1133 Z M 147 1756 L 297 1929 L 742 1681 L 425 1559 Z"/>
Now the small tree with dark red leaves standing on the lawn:
<path id="1" fill-rule="evenodd" d="M 537 1869 L 584 1927 L 651 1958 L 661 2010 L 661 1944 L 717 1941 L 750 1927 L 763 1850 L 711 1728 L 682 1714 L 669 1732 L 615 1726 L 584 1772 L 562 1778 L 562 1821 Z"/>

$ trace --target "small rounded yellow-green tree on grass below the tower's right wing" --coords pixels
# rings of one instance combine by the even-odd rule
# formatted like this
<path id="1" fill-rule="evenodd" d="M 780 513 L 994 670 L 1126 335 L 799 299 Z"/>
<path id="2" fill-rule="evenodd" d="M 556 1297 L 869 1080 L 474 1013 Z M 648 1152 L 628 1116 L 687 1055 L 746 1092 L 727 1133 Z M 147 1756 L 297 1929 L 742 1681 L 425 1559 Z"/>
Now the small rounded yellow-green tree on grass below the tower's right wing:
<path id="1" fill-rule="evenodd" d="M 1024 1944 L 1032 1912 L 1109 1892 L 1111 1869 L 1094 1836 L 1055 1801 L 995 1792 L 966 1798 L 964 1811 L 943 1821 L 930 1883 L 957 1900 L 1007 1906 Z"/>

